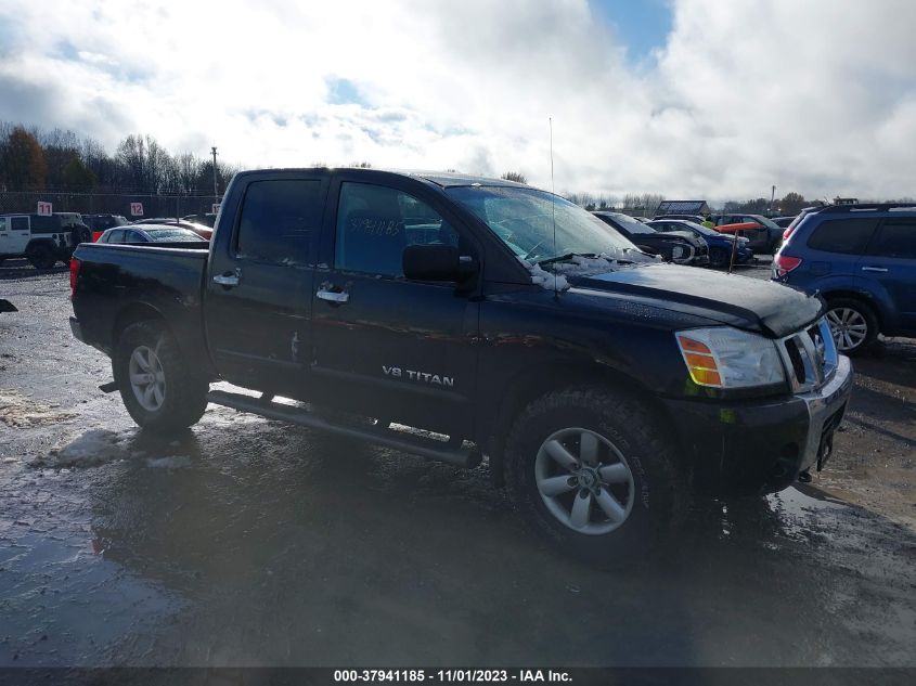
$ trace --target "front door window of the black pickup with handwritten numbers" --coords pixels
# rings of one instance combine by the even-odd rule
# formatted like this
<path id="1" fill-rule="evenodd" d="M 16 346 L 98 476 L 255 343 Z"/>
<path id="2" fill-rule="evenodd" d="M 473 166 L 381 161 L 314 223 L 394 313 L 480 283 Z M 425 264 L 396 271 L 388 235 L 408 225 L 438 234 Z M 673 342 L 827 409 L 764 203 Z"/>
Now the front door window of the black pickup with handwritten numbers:
<path id="1" fill-rule="evenodd" d="M 405 247 L 436 244 L 457 246 L 457 232 L 423 200 L 386 186 L 341 184 L 336 269 L 400 277 Z"/>

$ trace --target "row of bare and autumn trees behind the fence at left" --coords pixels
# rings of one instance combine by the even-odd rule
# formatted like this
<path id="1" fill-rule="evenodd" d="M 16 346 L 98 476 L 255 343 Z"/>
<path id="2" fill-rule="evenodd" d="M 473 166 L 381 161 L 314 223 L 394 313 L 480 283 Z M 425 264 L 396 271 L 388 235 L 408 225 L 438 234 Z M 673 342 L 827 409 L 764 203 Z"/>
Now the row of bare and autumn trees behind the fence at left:
<path id="1" fill-rule="evenodd" d="M 237 170 L 217 161 L 219 192 Z M 212 187 L 212 159 L 172 154 L 152 135 L 127 135 L 109 155 L 69 130 L 0 121 L 0 191 L 207 195 Z"/>

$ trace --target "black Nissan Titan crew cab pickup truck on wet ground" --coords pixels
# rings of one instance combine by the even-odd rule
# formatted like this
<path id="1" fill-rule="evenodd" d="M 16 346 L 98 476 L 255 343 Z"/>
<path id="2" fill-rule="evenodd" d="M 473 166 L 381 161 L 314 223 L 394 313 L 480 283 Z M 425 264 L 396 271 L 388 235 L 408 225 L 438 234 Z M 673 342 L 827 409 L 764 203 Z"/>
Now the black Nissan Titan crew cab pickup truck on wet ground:
<path id="1" fill-rule="evenodd" d="M 852 383 L 817 298 L 662 263 L 483 178 L 242 172 L 210 245 L 82 244 L 70 283 L 74 335 L 111 355 L 140 426 L 212 402 L 487 456 L 529 521 L 593 558 L 656 540 L 696 493 L 821 468 Z"/>

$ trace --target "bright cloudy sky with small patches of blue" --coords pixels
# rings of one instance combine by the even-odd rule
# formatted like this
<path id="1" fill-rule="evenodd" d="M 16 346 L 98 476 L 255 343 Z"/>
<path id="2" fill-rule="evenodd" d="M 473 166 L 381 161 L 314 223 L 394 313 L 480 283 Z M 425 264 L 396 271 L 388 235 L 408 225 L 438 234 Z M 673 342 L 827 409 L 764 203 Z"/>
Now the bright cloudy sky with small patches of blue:
<path id="1" fill-rule="evenodd" d="M 914 0 L 0 0 L 0 119 L 245 167 L 916 195 Z"/>

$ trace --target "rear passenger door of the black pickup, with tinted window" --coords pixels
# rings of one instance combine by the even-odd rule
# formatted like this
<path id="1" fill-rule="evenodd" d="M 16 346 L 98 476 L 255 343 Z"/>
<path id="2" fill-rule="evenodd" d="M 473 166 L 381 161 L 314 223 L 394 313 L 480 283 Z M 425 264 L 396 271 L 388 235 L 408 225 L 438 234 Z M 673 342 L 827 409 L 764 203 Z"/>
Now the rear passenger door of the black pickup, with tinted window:
<path id="1" fill-rule="evenodd" d="M 204 287 L 208 346 L 227 380 L 295 396 L 309 360 L 327 176 L 278 171 L 235 183 L 238 202 L 220 220 Z"/>

